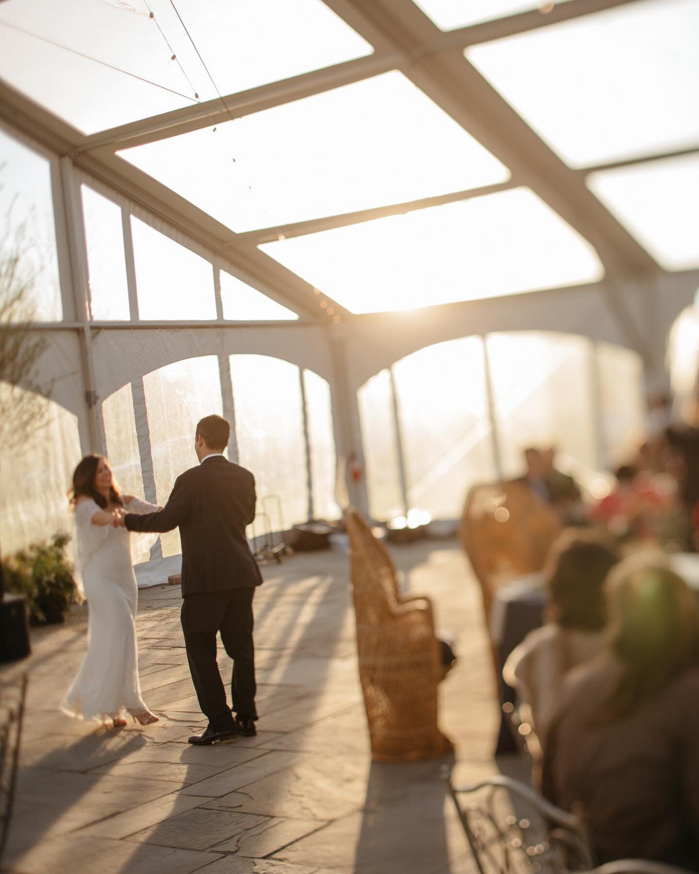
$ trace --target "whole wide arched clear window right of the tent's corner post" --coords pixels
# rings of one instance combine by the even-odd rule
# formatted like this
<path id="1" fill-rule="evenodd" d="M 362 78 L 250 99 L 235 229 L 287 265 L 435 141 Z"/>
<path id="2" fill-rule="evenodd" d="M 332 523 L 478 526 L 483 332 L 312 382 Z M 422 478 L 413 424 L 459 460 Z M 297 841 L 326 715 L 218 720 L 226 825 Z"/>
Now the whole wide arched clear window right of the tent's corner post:
<path id="1" fill-rule="evenodd" d="M 392 362 L 357 389 L 369 508 L 459 517 L 476 482 L 521 473 L 528 445 L 555 446 L 586 488 L 645 435 L 640 355 L 557 331 L 463 336 Z"/>

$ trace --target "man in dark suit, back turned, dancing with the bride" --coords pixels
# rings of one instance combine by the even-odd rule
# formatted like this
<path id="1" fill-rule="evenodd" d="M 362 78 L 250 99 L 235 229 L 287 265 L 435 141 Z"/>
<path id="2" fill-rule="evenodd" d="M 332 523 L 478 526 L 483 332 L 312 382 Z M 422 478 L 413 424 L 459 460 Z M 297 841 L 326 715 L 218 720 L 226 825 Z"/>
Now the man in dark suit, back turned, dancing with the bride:
<path id="1" fill-rule="evenodd" d="M 209 718 L 190 744 L 212 744 L 256 734 L 253 594 L 260 568 L 246 525 L 255 515 L 255 480 L 224 457 L 231 426 L 221 416 L 197 424 L 199 465 L 178 476 L 163 510 L 126 514 L 128 531 L 172 531 L 182 538 L 182 628 L 199 706 Z M 216 635 L 233 660 L 232 710 L 216 661 Z"/>

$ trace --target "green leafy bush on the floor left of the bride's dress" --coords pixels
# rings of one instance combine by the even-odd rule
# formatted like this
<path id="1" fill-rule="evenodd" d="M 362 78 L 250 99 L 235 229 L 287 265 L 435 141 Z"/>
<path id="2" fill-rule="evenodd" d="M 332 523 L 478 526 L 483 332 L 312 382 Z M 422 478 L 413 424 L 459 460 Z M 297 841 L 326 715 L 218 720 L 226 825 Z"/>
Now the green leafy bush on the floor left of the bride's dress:
<path id="1" fill-rule="evenodd" d="M 32 544 L 3 559 L 5 591 L 24 595 L 32 625 L 62 622 L 76 600 L 73 565 L 66 558 L 69 540 L 59 531 L 50 543 Z"/>

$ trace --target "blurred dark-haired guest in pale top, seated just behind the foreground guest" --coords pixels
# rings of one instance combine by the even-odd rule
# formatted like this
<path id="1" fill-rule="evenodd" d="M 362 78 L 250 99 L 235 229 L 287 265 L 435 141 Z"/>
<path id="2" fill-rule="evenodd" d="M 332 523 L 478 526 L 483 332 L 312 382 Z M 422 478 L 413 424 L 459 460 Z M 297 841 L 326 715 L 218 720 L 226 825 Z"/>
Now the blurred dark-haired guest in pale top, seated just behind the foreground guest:
<path id="1" fill-rule="evenodd" d="M 548 621 L 509 655 L 502 676 L 517 693 L 520 717 L 544 746 L 567 672 L 605 647 L 604 582 L 619 561 L 612 541 L 595 531 L 569 529 L 551 547 L 544 578 Z M 531 741 L 529 749 L 534 752 Z"/>

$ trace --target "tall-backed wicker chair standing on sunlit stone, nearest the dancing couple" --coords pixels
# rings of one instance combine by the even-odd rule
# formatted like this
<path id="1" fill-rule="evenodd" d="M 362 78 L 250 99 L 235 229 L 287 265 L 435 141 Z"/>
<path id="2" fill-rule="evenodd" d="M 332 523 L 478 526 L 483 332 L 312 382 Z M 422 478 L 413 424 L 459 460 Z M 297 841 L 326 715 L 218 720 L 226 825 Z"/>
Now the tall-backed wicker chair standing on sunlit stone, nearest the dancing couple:
<path id="1" fill-rule="evenodd" d="M 444 755 L 452 745 L 437 727 L 437 684 L 444 672 L 432 605 L 399 592 L 390 555 L 356 510 L 346 511 L 345 524 L 372 758 L 402 762 Z"/>

